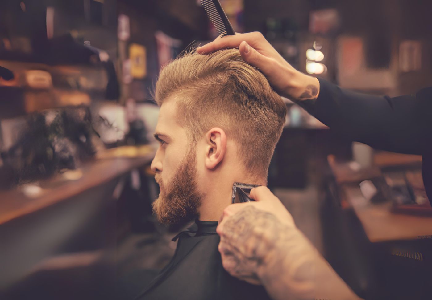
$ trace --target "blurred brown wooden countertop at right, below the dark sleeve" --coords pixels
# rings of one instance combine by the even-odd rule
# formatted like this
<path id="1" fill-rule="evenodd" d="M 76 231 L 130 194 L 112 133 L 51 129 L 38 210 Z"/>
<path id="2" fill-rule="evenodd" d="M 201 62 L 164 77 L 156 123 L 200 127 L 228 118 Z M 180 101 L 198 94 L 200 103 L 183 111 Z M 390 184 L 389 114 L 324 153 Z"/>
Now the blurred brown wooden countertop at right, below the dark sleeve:
<path id="1" fill-rule="evenodd" d="M 393 203 L 371 203 L 359 188 L 360 181 L 380 177 L 381 169 L 421 166 L 421 156 L 378 152 L 374 156 L 375 166 L 359 170 L 352 168 L 350 163 L 336 163 L 331 156 L 328 161 L 342 208 L 354 210 L 369 241 L 414 240 L 418 236 L 432 234 L 432 216 L 394 213 Z"/>

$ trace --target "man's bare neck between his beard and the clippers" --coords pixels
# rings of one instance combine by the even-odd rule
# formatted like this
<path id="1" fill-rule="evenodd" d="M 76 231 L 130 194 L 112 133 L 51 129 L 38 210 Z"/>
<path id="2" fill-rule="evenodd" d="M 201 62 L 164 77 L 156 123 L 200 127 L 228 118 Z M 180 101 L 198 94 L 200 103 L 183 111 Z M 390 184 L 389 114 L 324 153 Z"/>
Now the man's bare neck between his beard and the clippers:
<path id="1" fill-rule="evenodd" d="M 205 188 L 205 196 L 199 209 L 201 221 L 219 221 L 223 209 L 231 204 L 232 184 L 234 182 L 236 180 L 220 180 L 218 184 L 212 184 L 212 186 Z M 265 180 L 251 182 L 247 179 L 239 179 L 237 182 L 265 185 Z"/>

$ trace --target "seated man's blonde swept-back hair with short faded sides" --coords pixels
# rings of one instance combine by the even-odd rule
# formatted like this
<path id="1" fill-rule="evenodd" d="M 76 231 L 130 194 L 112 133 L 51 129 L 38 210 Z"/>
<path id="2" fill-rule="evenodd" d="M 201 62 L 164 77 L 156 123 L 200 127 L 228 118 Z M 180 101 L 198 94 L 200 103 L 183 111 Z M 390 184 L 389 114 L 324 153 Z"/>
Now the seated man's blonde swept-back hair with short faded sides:
<path id="1" fill-rule="evenodd" d="M 238 50 L 193 51 L 168 63 L 156 82 L 155 100 L 161 106 L 172 96 L 178 101 L 178 122 L 192 143 L 211 128 L 222 128 L 238 145 L 245 170 L 267 176 L 286 105 Z"/>

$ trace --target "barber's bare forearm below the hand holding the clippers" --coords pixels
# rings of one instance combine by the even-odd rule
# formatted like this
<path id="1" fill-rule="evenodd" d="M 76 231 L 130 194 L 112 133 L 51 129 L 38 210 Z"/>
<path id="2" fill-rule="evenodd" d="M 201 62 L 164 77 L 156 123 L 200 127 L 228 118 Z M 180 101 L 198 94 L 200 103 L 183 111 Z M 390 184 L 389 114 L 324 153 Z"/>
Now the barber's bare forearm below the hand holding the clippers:
<path id="1" fill-rule="evenodd" d="M 286 227 L 280 228 L 280 233 L 258 273 L 274 300 L 360 299 L 302 232 Z"/>

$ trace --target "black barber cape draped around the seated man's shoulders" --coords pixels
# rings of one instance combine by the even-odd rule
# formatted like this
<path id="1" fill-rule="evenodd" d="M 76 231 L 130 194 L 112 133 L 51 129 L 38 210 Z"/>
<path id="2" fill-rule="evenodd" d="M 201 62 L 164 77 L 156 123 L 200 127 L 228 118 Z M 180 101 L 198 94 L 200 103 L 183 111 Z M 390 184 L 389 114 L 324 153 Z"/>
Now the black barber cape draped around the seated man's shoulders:
<path id="1" fill-rule="evenodd" d="M 136 298 L 139 300 L 270 299 L 264 287 L 229 275 L 217 249 L 218 222 L 196 220 L 178 234 L 171 262 Z"/>

